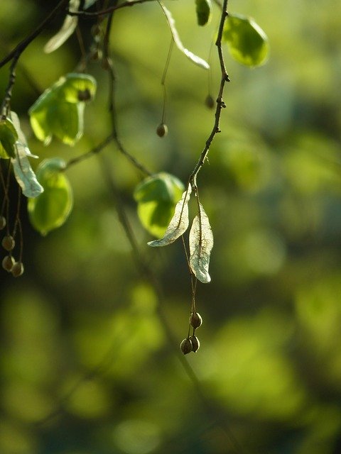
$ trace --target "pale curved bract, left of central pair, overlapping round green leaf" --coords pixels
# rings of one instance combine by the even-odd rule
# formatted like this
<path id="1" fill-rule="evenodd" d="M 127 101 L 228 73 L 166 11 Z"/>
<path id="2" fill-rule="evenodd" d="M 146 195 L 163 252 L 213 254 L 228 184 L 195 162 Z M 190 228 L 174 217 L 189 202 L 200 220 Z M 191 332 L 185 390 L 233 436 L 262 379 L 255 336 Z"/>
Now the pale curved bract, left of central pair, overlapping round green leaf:
<path id="1" fill-rule="evenodd" d="M 188 189 L 183 193 L 180 201 L 175 206 L 175 213 L 167 230 L 160 240 L 149 241 L 149 246 L 166 246 L 173 243 L 183 235 L 188 228 L 188 201 L 190 200 L 190 193 L 192 187 L 188 185 Z"/>

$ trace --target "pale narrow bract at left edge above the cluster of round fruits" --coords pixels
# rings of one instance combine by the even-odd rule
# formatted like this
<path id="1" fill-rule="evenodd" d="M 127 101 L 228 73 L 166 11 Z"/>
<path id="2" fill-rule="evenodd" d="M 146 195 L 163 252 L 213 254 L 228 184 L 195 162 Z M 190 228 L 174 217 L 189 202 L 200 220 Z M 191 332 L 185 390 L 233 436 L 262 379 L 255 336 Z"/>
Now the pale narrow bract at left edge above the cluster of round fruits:
<path id="1" fill-rule="evenodd" d="M 32 170 L 28 156 L 38 156 L 32 155 L 29 150 L 26 137 L 23 131 L 21 131 L 19 118 L 13 111 L 11 111 L 11 120 L 13 121 L 13 126 L 15 126 L 16 132 L 18 133 L 18 140 L 15 144 L 16 157 L 11 158 L 14 176 L 16 177 L 16 181 L 21 187 L 24 196 L 37 197 L 43 192 L 44 189 L 41 184 L 39 184 L 36 174 Z"/>

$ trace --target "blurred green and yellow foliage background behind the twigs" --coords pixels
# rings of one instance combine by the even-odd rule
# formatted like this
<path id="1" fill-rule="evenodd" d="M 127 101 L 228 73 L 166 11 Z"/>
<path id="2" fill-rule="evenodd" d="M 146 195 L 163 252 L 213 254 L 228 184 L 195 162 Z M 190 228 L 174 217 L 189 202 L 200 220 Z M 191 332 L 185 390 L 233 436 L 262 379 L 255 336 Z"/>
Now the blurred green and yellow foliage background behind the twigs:
<path id="1" fill-rule="evenodd" d="M 56 3 L 1 1 L 1 57 Z M 194 1 L 166 6 L 184 45 L 208 58 L 219 9 L 199 28 Z M 162 307 L 131 258 L 101 157 L 68 171 L 75 207 L 58 231 L 40 237 L 23 207 L 25 273 L 0 275 L 0 453 L 341 452 L 341 4 L 231 0 L 229 11 L 254 17 L 271 55 L 249 70 L 225 52 L 222 133 L 198 177 L 215 247 L 212 282 L 197 288 L 201 347 L 185 357 L 197 382 L 179 362 L 191 294 L 182 245 L 148 250 L 153 238 L 132 197 L 141 175 L 110 145 L 103 153 L 162 284 Z M 33 137 L 29 106 L 80 57 L 75 37 L 43 53 L 62 22 L 23 53 L 34 84 L 19 67 L 11 106 L 33 153 L 67 160 L 106 137 L 110 118 L 107 73 L 92 62 L 98 92 L 84 137 L 75 148 L 57 140 L 44 148 Z M 83 20 L 82 31 L 93 23 Z M 173 50 L 169 133 L 160 139 L 170 32 L 158 4 L 117 11 L 111 42 L 122 142 L 153 172 L 185 182 L 214 121 L 207 72 Z M 216 96 L 214 48 L 210 63 Z M 8 66 L 1 93 L 7 80 Z"/>

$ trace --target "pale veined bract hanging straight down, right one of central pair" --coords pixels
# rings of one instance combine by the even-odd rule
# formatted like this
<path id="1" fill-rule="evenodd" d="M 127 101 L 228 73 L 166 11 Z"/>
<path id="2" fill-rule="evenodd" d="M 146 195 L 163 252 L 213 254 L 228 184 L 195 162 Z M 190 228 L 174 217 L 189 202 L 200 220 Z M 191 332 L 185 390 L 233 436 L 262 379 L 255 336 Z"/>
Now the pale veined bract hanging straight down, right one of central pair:
<path id="1" fill-rule="evenodd" d="M 195 216 L 190 228 L 190 267 L 195 277 L 204 284 L 211 280 L 208 267 L 212 248 L 213 234 L 210 221 L 202 204 L 199 204 L 199 214 Z"/>

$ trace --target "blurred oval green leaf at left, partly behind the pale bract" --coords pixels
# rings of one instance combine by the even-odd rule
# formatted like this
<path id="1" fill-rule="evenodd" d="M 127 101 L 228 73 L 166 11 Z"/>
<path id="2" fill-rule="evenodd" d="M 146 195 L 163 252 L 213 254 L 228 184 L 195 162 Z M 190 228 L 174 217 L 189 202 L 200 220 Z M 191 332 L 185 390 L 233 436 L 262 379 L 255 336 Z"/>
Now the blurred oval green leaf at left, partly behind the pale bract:
<path id="1" fill-rule="evenodd" d="M 65 161 L 60 158 L 44 160 L 38 166 L 37 178 L 44 192 L 28 199 L 28 215 L 32 226 L 42 235 L 62 226 L 72 210 L 72 189 L 64 169 Z"/>

